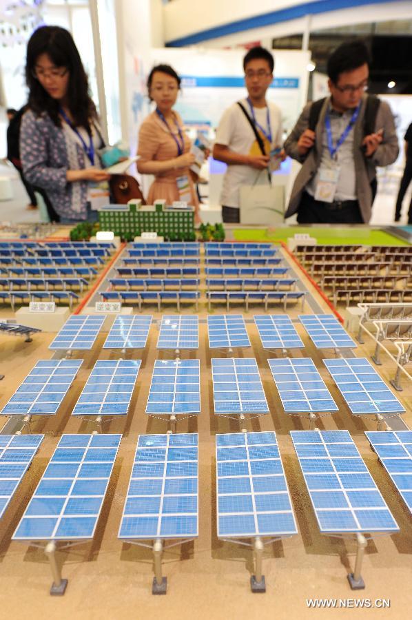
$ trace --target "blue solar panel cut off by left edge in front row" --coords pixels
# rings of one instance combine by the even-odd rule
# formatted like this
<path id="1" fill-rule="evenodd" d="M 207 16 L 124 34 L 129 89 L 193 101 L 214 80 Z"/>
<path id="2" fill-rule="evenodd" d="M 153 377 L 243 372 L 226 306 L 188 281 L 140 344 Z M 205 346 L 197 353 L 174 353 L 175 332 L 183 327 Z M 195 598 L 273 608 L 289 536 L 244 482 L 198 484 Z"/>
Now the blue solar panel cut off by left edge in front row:
<path id="1" fill-rule="evenodd" d="M 0 435 L 0 519 L 44 435 Z"/>

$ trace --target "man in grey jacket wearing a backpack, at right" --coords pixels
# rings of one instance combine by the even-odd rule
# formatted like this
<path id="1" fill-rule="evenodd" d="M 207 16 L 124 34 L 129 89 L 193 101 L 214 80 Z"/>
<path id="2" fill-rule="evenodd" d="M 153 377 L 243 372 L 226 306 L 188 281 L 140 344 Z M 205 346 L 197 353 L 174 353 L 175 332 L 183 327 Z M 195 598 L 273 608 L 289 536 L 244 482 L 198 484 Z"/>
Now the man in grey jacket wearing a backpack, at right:
<path id="1" fill-rule="evenodd" d="M 362 224 L 371 219 L 376 166 L 398 157 L 391 108 L 367 95 L 369 54 L 361 41 L 329 57 L 331 95 L 308 103 L 285 142 L 302 164 L 285 217 L 300 224 Z"/>

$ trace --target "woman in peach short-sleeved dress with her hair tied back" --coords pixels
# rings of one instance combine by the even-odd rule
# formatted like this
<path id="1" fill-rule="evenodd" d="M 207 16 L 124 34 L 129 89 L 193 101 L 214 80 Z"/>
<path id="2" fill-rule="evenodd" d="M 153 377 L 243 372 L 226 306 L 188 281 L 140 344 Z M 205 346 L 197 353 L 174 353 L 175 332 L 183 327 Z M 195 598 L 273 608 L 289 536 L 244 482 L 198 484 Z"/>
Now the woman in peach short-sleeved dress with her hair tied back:
<path id="1" fill-rule="evenodd" d="M 180 85 L 180 77 L 169 65 L 156 65 L 150 72 L 147 90 L 156 110 L 143 121 L 138 134 L 137 169 L 141 174 L 154 174 L 149 205 L 161 198 L 167 205 L 184 200 L 194 205 L 197 222 L 198 199 L 189 170 L 195 158 L 182 119 L 173 110 Z"/>

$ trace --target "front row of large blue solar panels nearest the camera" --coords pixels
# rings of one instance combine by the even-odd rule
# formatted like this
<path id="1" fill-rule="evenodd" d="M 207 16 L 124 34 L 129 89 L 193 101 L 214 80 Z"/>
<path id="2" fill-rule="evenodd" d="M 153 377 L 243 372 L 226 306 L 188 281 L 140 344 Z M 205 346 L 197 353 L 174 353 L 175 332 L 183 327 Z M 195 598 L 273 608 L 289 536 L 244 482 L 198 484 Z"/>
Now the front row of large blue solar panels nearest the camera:
<path id="1" fill-rule="evenodd" d="M 405 487 L 412 482 L 412 432 L 367 437 L 411 510 Z M 291 438 L 322 533 L 399 530 L 347 431 L 291 431 Z M 0 488 L 8 485 L 7 503 L 42 440 L 43 435 L 0 437 Z M 121 435 L 63 435 L 13 538 L 92 538 L 120 442 Z M 219 537 L 297 533 L 274 432 L 216 435 L 216 474 Z M 141 435 L 119 537 L 197 535 L 197 433 Z"/>

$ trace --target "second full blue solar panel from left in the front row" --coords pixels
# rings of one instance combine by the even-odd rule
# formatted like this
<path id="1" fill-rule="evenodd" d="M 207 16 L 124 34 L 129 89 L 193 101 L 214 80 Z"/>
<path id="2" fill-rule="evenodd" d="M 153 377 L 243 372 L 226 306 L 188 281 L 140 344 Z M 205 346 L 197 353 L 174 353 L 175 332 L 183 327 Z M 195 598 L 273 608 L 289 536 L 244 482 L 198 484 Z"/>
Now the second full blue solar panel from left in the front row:
<path id="1" fill-rule="evenodd" d="M 140 435 L 119 538 L 198 536 L 198 434 Z"/>

